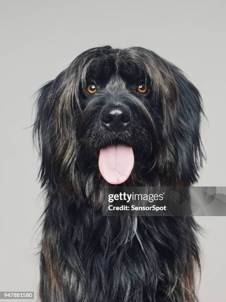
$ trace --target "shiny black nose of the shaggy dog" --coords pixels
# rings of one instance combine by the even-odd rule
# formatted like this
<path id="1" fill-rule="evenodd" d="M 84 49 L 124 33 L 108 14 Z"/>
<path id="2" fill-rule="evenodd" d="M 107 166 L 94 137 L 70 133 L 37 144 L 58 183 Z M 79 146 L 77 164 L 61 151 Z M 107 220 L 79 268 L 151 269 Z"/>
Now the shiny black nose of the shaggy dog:
<path id="1" fill-rule="evenodd" d="M 102 111 L 100 118 L 108 130 L 122 131 L 129 125 L 131 113 L 122 107 L 108 107 Z"/>

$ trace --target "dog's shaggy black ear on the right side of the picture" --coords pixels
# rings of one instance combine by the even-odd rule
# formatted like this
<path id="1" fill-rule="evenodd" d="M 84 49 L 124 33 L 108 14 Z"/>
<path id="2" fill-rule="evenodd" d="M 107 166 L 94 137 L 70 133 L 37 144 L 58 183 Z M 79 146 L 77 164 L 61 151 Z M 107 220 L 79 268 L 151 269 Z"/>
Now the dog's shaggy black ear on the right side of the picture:
<path id="1" fill-rule="evenodd" d="M 164 64 L 167 74 L 166 93 L 162 94 L 165 171 L 171 170 L 172 179 L 179 184 L 190 185 L 197 181 L 204 156 L 200 139 L 202 100 L 181 70 L 168 62 Z"/>

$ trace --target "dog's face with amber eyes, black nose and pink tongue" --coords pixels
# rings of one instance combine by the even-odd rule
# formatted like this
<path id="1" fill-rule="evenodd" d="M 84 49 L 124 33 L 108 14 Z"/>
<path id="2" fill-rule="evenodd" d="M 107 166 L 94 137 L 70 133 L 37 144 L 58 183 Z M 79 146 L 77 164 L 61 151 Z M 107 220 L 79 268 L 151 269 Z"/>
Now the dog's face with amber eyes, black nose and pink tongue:
<path id="1" fill-rule="evenodd" d="M 81 88 L 77 138 L 83 168 L 97 169 L 110 184 L 125 182 L 144 162 L 143 169 L 151 169 L 161 149 L 162 109 L 143 67 L 123 51 L 118 61 L 114 53 L 95 58 Z"/>

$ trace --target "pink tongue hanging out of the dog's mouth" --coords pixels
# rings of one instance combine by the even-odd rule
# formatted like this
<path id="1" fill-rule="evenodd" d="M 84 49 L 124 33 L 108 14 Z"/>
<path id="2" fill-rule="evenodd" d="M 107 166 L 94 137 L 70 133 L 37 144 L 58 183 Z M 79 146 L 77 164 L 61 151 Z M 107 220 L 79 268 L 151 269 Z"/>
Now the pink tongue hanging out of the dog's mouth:
<path id="1" fill-rule="evenodd" d="M 133 168 L 134 155 L 132 148 L 126 145 L 113 145 L 99 152 L 99 171 L 109 184 L 124 183 Z"/>

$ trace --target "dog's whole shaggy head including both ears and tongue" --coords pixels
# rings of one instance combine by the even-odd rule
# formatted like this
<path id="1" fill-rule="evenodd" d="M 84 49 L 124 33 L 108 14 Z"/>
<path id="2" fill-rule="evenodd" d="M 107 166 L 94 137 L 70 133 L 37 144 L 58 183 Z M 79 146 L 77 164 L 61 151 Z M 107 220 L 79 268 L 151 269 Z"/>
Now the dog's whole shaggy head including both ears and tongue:
<path id="1" fill-rule="evenodd" d="M 190 185 L 201 113 L 194 85 L 154 52 L 89 49 L 38 92 L 42 184 L 69 194 L 104 182 Z"/>

